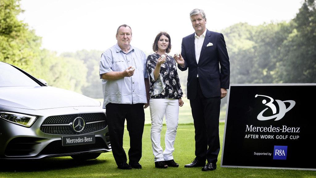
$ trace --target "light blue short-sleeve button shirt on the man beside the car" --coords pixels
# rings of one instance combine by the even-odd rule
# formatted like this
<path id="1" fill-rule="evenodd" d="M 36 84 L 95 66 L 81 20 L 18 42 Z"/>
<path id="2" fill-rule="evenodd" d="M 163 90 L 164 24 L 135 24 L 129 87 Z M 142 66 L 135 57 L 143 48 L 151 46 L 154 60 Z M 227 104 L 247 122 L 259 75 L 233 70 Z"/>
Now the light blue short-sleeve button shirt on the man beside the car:
<path id="1" fill-rule="evenodd" d="M 148 78 L 146 70 L 145 53 L 130 45 L 130 50 L 123 52 L 119 45 L 107 49 L 100 60 L 100 79 L 102 73 L 111 71 L 121 72 L 130 66 L 135 66 L 133 76 L 117 80 L 102 79 L 103 108 L 108 103 L 116 104 L 137 104 L 147 103 L 147 95 L 144 78 Z"/>

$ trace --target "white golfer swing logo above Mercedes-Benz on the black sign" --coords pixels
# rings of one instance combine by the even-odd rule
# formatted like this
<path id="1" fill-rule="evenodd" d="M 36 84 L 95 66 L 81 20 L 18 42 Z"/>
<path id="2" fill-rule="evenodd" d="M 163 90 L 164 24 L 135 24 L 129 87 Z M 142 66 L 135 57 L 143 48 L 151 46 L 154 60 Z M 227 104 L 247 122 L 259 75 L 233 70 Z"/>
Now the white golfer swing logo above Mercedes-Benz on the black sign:
<path id="1" fill-rule="evenodd" d="M 295 105 L 295 101 L 293 101 L 293 100 L 281 101 L 281 100 L 277 100 L 277 99 L 276 99 L 275 101 L 276 101 L 276 102 L 278 103 L 278 105 L 279 105 L 279 113 L 276 114 L 276 106 L 273 104 L 274 99 L 271 98 L 271 97 L 269 97 L 269 96 L 258 95 L 258 94 L 255 96 L 255 98 L 257 98 L 258 96 L 263 96 L 263 97 L 267 97 L 267 98 L 270 99 L 270 102 L 267 103 L 267 101 L 264 99 L 264 100 L 262 100 L 262 103 L 263 103 L 264 105 L 266 105 L 266 106 L 269 106 L 270 109 L 272 110 L 272 113 L 274 114 L 274 115 L 272 115 L 272 116 L 264 117 L 264 116 L 263 116 L 264 111 L 266 111 L 267 109 L 269 109 L 269 108 L 265 108 L 263 111 L 261 111 L 261 112 L 258 114 L 258 117 L 257 117 L 258 120 L 261 120 L 261 121 L 269 120 L 269 119 L 274 119 L 274 118 L 276 118 L 275 121 L 280 120 L 280 119 L 283 118 L 283 116 L 285 115 L 285 113 L 288 112 L 289 110 L 291 110 L 291 109 L 294 107 L 294 105 Z M 286 103 L 286 102 L 290 103 L 290 105 L 289 105 L 288 108 L 286 108 L 286 105 L 284 104 L 284 103 Z"/>

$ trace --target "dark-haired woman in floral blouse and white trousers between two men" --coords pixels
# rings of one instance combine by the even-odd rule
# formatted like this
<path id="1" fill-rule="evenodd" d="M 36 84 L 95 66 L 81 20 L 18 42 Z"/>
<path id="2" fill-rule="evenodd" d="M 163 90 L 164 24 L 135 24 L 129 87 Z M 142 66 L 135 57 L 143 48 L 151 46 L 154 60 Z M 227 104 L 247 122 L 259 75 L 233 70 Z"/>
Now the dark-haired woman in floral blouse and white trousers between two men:
<path id="1" fill-rule="evenodd" d="M 172 56 L 166 54 L 170 52 L 170 49 L 170 35 L 160 32 L 153 43 L 155 53 L 147 58 L 147 70 L 150 75 L 150 138 L 156 168 L 179 167 L 179 164 L 174 162 L 172 153 L 178 127 L 179 106 L 183 105 L 181 99 L 183 93 L 176 62 Z M 163 116 L 167 124 L 164 151 L 160 145 Z"/>

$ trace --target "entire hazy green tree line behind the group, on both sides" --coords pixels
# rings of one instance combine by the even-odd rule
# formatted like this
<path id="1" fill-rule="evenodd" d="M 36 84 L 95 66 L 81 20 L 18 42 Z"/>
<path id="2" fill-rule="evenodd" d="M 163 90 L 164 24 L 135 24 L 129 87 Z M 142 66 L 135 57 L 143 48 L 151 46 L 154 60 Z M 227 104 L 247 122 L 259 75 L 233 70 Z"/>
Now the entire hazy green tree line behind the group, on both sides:
<path id="1" fill-rule="evenodd" d="M 0 61 L 13 64 L 50 86 L 103 98 L 99 62 L 103 51 L 62 53 L 41 49 L 41 37 L 19 21 L 19 0 L 0 1 Z M 234 24 L 225 37 L 231 84 L 316 83 L 316 5 L 305 0 L 290 22 Z M 179 73 L 186 92 L 187 72 Z"/>

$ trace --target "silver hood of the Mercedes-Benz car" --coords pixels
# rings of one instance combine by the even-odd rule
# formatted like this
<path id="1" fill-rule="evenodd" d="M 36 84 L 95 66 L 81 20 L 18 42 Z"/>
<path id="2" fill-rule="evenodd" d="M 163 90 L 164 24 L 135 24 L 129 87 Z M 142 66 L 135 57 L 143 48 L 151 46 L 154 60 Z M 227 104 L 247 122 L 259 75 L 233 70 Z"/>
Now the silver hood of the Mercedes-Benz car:
<path id="1" fill-rule="evenodd" d="M 0 87 L 0 105 L 41 110 L 76 106 L 100 106 L 82 94 L 51 86 Z"/>

